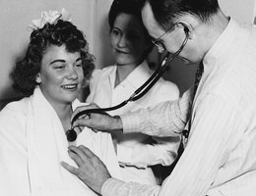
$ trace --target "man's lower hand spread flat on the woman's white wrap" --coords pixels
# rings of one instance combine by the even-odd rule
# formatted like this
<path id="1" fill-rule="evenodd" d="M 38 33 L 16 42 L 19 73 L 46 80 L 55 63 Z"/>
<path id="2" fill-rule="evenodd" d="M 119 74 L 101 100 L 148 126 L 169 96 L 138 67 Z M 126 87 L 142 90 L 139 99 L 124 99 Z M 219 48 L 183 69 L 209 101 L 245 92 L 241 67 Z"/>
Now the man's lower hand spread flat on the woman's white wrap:
<path id="1" fill-rule="evenodd" d="M 85 146 L 70 146 L 68 153 L 78 168 L 61 162 L 63 168 L 77 175 L 85 184 L 100 194 L 101 186 L 111 177 L 104 164 Z"/>

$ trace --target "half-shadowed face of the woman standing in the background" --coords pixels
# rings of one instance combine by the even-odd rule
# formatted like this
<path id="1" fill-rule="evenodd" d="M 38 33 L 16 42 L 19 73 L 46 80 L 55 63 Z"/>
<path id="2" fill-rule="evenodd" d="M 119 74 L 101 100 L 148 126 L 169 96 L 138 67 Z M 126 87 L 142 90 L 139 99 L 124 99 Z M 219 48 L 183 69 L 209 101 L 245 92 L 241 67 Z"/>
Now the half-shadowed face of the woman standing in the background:
<path id="1" fill-rule="evenodd" d="M 150 40 L 143 24 L 137 17 L 119 14 L 110 31 L 110 42 L 117 65 L 138 65 L 150 47 Z"/>

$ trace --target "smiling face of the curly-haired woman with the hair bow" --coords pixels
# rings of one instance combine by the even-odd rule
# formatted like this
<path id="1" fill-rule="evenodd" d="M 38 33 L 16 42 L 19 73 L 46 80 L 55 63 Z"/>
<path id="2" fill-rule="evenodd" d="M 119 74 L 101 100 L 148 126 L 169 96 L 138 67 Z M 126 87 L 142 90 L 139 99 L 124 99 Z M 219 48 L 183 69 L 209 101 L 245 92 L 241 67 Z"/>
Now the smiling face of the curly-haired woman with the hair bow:
<path id="1" fill-rule="evenodd" d="M 51 104 L 70 104 L 84 79 L 80 52 L 69 53 L 65 45 L 50 45 L 42 57 L 36 82 Z"/>

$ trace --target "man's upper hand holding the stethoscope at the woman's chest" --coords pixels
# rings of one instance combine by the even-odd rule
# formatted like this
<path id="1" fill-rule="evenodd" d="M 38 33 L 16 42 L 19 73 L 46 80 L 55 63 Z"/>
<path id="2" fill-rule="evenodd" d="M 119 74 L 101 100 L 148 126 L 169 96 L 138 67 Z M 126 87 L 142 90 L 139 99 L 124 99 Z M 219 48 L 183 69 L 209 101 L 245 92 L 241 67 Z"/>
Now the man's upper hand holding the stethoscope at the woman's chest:
<path id="1" fill-rule="evenodd" d="M 78 107 L 74 113 L 72 114 L 71 119 L 73 119 L 78 113 L 84 110 L 90 109 L 99 109 L 96 104 L 90 104 L 87 106 Z M 83 115 L 78 120 L 73 123 L 73 126 L 88 126 L 92 129 L 106 131 L 110 133 L 114 132 L 122 132 L 123 124 L 120 117 L 111 117 L 106 113 L 103 114 L 96 114 L 90 113 L 88 115 Z"/>

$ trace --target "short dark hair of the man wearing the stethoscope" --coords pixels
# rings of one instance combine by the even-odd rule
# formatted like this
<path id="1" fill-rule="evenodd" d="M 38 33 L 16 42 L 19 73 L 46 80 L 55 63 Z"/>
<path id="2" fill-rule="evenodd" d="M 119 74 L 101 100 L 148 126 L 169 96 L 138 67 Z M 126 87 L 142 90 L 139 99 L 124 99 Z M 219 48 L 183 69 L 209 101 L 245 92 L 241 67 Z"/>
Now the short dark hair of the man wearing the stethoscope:
<path id="1" fill-rule="evenodd" d="M 168 30 L 174 20 L 184 14 L 207 22 L 220 9 L 218 0 L 147 0 L 154 17 L 163 30 Z"/>

